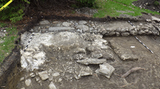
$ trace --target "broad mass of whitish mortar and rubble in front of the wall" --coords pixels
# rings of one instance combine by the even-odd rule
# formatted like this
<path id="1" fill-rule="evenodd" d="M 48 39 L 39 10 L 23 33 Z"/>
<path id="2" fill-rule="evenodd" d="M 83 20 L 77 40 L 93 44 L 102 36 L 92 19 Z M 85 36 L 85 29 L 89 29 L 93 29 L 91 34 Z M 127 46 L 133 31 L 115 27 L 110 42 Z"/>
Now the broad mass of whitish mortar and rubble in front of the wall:
<path id="1" fill-rule="evenodd" d="M 24 47 L 28 35 L 30 33 L 21 36 Z M 77 32 L 35 33 L 26 51 L 21 49 L 21 55 L 22 68 L 31 72 L 26 76 L 35 78 L 40 85 L 43 81 L 71 81 L 91 76 L 93 70 L 89 64 L 99 65 L 107 59 L 115 60 L 108 41 L 101 35 Z M 50 67 L 46 67 L 48 65 Z"/>

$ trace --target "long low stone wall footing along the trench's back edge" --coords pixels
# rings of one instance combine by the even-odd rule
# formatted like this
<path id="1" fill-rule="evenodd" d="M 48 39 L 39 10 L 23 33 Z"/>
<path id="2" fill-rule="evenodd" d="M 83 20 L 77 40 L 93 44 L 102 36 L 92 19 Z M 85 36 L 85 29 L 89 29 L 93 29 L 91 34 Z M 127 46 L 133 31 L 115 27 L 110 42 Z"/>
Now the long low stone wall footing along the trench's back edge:
<path id="1" fill-rule="evenodd" d="M 159 18 L 152 17 L 152 20 L 159 21 Z M 148 20 L 147 22 L 152 22 Z M 43 22 L 43 21 L 42 21 Z M 57 21 L 54 26 L 50 26 L 46 29 L 39 29 L 39 32 L 54 32 L 54 31 L 72 31 L 72 32 L 88 32 L 95 34 L 102 34 L 104 36 L 129 36 L 129 35 L 159 35 L 159 31 L 155 29 L 152 23 L 141 23 L 137 24 L 132 22 L 131 26 L 126 21 L 115 21 L 115 22 L 95 22 L 95 21 Z M 41 22 L 40 22 L 41 24 Z M 158 25 L 158 24 L 157 24 Z M 34 29 L 36 29 L 35 27 Z"/>

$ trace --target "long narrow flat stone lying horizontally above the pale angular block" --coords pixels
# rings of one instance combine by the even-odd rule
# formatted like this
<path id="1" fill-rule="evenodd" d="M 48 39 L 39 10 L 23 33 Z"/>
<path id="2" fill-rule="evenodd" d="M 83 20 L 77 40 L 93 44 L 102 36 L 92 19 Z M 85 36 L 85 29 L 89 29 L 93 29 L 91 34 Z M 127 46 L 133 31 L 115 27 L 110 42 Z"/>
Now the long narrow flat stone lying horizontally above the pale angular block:
<path id="1" fill-rule="evenodd" d="M 83 60 L 77 60 L 78 63 L 89 65 L 89 64 L 102 64 L 106 62 L 106 59 L 86 58 Z"/>

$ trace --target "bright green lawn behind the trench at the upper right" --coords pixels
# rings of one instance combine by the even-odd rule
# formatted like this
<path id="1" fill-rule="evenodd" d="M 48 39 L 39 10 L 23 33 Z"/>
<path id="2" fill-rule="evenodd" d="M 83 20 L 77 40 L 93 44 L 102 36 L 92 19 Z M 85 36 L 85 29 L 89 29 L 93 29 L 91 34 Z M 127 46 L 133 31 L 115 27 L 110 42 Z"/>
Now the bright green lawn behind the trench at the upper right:
<path id="1" fill-rule="evenodd" d="M 94 17 L 116 17 L 121 14 L 141 16 L 142 12 L 160 15 L 158 12 L 153 12 L 147 9 L 141 9 L 139 7 L 133 6 L 133 1 L 137 0 L 97 0 L 96 3 L 99 9 L 98 13 L 94 14 Z"/>

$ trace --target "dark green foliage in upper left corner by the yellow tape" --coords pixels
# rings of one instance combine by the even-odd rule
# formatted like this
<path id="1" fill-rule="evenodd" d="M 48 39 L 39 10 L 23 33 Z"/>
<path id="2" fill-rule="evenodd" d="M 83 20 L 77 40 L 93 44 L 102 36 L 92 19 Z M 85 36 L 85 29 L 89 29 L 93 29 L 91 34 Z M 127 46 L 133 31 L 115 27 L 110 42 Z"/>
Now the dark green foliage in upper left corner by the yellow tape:
<path id="1" fill-rule="evenodd" d="M 5 5 L 9 0 L 0 0 L 0 7 Z M 0 12 L 0 20 L 10 20 L 16 22 L 22 19 L 24 15 L 25 4 L 29 4 L 27 0 L 15 0 Z"/>

